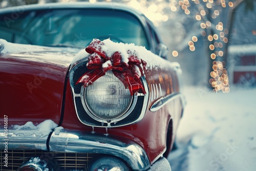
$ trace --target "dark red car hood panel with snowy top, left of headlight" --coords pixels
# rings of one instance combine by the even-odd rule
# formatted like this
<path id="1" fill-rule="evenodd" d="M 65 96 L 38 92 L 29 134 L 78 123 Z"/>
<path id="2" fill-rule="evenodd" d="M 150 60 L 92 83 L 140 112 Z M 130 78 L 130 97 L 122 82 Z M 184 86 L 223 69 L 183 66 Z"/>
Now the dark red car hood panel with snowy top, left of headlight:
<path id="1" fill-rule="evenodd" d="M 0 54 L 1 113 L 9 125 L 59 124 L 69 66 L 80 49 L 13 45 Z"/>

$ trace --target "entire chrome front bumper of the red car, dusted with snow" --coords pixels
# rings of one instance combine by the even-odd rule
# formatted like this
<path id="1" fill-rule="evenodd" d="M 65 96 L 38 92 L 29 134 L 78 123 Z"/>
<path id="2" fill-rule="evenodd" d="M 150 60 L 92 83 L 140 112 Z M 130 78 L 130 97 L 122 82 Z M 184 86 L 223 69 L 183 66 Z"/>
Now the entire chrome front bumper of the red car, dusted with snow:
<path id="1" fill-rule="evenodd" d="M 9 151 L 14 149 L 42 149 L 50 152 L 108 154 L 123 159 L 133 170 L 171 170 L 165 158 L 151 166 L 144 149 L 127 139 L 119 141 L 110 136 L 83 135 L 79 132 L 64 130 L 43 137 L 32 134 L 33 130 L 27 132 L 29 136 L 15 135 L 14 130 L 9 130 L 8 137 L 6 137 L 4 131 L 0 130 L 0 148 L 8 148 Z"/>

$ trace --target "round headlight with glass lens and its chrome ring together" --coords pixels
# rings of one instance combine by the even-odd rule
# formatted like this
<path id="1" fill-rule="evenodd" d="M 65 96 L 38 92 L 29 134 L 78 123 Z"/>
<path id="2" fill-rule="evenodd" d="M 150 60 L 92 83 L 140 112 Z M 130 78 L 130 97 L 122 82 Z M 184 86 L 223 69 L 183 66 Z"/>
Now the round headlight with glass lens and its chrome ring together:
<path id="1" fill-rule="evenodd" d="M 105 77 L 110 76 L 113 78 L 111 81 L 104 81 Z M 84 110 L 91 118 L 109 125 L 124 119 L 134 110 L 138 93 L 131 96 L 128 92 L 129 89 L 125 89 L 123 83 L 108 71 L 91 86 L 82 86 L 79 96 Z"/>

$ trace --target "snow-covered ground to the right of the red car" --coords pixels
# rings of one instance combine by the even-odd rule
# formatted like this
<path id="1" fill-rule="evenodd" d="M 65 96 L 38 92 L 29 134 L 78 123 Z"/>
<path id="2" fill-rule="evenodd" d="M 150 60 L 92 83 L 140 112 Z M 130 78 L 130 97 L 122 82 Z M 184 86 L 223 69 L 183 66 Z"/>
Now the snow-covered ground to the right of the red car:
<path id="1" fill-rule="evenodd" d="M 214 94 L 184 89 L 187 105 L 177 132 L 173 171 L 256 170 L 256 89 Z"/>

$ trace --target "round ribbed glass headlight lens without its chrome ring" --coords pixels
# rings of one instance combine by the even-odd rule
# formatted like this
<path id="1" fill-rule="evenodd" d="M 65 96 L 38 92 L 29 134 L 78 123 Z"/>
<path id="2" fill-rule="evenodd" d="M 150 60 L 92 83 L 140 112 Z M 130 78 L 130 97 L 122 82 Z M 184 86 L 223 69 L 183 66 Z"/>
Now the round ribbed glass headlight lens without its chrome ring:
<path id="1" fill-rule="evenodd" d="M 133 101 L 129 89 L 112 73 L 98 78 L 84 90 L 84 101 L 91 114 L 97 118 L 115 119 L 129 110 Z"/>

